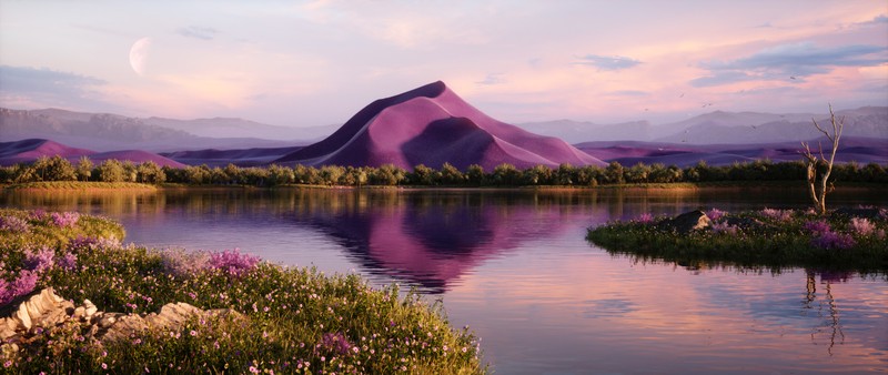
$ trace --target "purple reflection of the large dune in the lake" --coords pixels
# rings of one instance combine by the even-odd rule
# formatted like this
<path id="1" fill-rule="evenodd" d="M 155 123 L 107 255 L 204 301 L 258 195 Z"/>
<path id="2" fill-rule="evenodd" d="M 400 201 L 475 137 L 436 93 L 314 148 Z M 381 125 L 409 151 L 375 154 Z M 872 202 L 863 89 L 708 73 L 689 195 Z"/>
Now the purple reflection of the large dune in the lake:
<path id="1" fill-rule="evenodd" d="M 292 220 L 336 239 L 367 270 L 441 293 L 483 260 L 557 235 L 564 206 L 503 194 L 330 194 Z M 503 204 L 504 200 L 522 204 Z M 578 219 L 578 217 L 577 217 Z M 585 216 L 588 220 L 588 216 Z"/>

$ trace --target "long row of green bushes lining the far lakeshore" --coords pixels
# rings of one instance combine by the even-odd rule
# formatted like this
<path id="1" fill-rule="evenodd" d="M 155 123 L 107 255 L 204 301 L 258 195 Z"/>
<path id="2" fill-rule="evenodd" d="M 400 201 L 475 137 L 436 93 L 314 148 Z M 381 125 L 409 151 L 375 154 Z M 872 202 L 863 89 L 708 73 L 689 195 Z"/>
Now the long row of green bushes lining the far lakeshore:
<path id="1" fill-rule="evenodd" d="M 108 160 L 94 164 L 82 158 L 72 164 L 68 160 L 53 156 L 41 158 L 31 164 L 16 164 L 0 168 L 0 183 L 27 183 L 40 181 L 102 181 L 141 182 L 149 184 L 183 183 L 193 185 L 252 185 L 279 186 L 286 184 L 307 185 L 445 185 L 445 186 L 527 186 L 565 185 L 597 186 L 625 183 L 672 183 L 672 182 L 716 182 L 716 181 L 805 181 L 806 165 L 801 161 L 774 163 L 759 160 L 750 163 L 735 163 L 726 166 L 710 166 L 705 162 L 680 169 L 664 164 L 635 164 L 624 166 L 610 162 L 607 166 L 573 166 L 562 164 L 556 169 L 536 165 L 519 170 L 511 164 L 500 164 L 493 171 L 484 171 L 481 165 L 470 165 L 460 171 L 445 163 L 440 170 L 416 165 L 413 171 L 394 165 L 372 166 L 284 166 L 272 164 L 268 168 L 240 168 L 229 164 L 225 168 L 206 165 L 184 169 L 161 168 L 153 162 L 134 164 L 129 161 Z M 876 163 L 864 166 L 850 162 L 835 165 L 833 181 L 839 182 L 888 182 L 888 171 Z"/>

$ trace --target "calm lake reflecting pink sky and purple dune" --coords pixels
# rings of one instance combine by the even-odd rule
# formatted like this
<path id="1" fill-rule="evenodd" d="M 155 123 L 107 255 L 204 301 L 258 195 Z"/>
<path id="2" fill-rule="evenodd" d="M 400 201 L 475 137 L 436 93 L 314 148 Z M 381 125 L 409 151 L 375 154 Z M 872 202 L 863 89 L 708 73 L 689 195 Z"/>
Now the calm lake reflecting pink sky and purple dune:
<path id="1" fill-rule="evenodd" d="M 828 205 L 888 205 L 838 191 Z M 500 374 L 885 373 L 888 281 L 639 262 L 585 241 L 642 213 L 808 205 L 801 189 L 6 192 L 114 219 L 127 242 L 239 247 L 442 300 Z"/>

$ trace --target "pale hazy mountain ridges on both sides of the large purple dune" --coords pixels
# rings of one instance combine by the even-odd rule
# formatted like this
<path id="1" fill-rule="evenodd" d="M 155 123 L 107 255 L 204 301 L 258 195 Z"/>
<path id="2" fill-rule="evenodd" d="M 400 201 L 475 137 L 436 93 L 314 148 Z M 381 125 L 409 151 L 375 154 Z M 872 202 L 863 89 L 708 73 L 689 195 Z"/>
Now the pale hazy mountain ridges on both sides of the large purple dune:
<path id="1" fill-rule="evenodd" d="M 845 116 L 845 135 L 888 139 L 888 107 L 836 112 Z M 556 120 L 517 124 L 531 133 L 576 144 L 601 141 L 645 141 L 688 144 L 739 144 L 803 141 L 820 136 L 811 124 L 829 124 L 828 113 L 758 113 L 715 111 L 684 121 L 652 124 L 632 121 L 598 124 Z M 198 149 L 254 149 L 306 145 L 333 134 L 340 125 L 289 128 L 231 118 L 173 120 L 128 118 L 58 109 L 0 108 L 0 142 L 51 139 L 99 151 L 143 149 L 174 152 Z"/>

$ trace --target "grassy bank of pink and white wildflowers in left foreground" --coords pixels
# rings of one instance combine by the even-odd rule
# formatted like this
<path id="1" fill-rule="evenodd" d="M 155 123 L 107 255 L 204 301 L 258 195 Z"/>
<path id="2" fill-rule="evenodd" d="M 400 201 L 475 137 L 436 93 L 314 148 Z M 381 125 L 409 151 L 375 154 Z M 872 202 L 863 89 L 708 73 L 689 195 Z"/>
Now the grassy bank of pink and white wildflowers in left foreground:
<path id="1" fill-rule="evenodd" d="M 123 229 L 78 213 L 0 210 L 0 312 L 43 287 L 99 311 L 168 303 L 231 308 L 181 330 L 100 342 L 69 321 L 4 349 L 0 373 L 482 374 L 478 338 L 438 303 L 359 275 L 284 267 L 235 250 L 123 245 Z M 10 346 L 4 346 L 9 348 Z"/>

